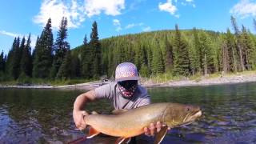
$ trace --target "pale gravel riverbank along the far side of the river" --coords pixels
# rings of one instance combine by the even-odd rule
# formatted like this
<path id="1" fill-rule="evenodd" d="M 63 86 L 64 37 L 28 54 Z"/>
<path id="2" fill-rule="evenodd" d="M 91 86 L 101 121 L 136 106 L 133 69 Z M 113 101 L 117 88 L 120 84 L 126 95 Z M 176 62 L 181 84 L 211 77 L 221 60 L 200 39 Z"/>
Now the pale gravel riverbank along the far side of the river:
<path id="1" fill-rule="evenodd" d="M 141 84 L 147 88 L 150 87 L 171 87 L 171 86 L 210 86 L 222 84 L 234 84 L 242 82 L 256 82 L 256 72 L 243 72 L 237 74 L 212 74 L 200 76 L 197 78 L 179 78 L 178 80 L 167 80 L 166 82 L 158 82 L 152 78 L 142 78 Z M 79 83 L 65 86 L 50 86 L 50 85 L 3 85 L 0 88 L 34 88 L 34 89 L 80 89 L 92 90 L 98 86 L 102 86 L 108 82 L 94 81 Z"/>

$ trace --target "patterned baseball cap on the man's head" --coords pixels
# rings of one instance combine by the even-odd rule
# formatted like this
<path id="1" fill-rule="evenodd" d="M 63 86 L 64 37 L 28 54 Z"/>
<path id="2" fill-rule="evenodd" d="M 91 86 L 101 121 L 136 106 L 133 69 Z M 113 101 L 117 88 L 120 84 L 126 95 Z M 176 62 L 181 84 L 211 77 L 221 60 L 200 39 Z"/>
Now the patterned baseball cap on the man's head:
<path id="1" fill-rule="evenodd" d="M 115 70 L 115 82 L 138 80 L 137 67 L 131 62 L 120 63 Z"/>

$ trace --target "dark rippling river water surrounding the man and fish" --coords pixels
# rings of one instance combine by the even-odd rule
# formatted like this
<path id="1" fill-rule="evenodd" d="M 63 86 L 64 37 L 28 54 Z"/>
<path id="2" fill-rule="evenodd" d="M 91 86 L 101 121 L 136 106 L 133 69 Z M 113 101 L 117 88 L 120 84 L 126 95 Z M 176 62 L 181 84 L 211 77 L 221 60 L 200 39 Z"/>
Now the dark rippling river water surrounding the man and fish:
<path id="1" fill-rule="evenodd" d="M 256 143 L 256 83 L 148 89 L 152 102 L 202 107 L 202 118 L 168 132 L 162 143 Z M 74 130 L 72 110 L 81 90 L 0 89 L 0 143 L 66 143 Z M 86 110 L 108 113 L 109 102 Z"/>

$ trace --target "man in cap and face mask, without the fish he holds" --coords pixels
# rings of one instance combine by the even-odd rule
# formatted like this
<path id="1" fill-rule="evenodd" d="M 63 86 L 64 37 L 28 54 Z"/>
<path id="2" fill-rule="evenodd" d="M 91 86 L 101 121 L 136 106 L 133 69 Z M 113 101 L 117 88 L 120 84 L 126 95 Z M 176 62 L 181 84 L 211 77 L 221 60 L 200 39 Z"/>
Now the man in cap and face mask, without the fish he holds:
<path id="1" fill-rule="evenodd" d="M 114 111 L 130 110 L 150 104 L 150 95 L 144 87 L 138 85 L 138 70 L 131 62 L 123 62 L 116 67 L 115 82 L 100 86 L 80 94 L 74 102 L 73 117 L 75 125 L 79 130 L 86 128 L 83 117 L 88 113 L 83 110 L 87 102 L 99 98 L 108 98 L 113 102 Z M 151 123 L 144 128 L 146 135 L 154 135 L 162 128 L 161 122 Z"/>

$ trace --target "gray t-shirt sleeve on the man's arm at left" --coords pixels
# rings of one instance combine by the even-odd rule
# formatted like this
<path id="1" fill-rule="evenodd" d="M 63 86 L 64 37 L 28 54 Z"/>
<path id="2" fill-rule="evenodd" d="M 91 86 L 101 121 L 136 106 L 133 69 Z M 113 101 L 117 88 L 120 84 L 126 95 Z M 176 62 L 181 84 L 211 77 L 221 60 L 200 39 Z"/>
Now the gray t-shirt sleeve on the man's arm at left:
<path id="1" fill-rule="evenodd" d="M 96 98 L 112 99 L 111 98 L 112 94 L 111 94 L 111 86 L 110 86 L 110 84 L 99 86 L 96 89 L 94 89 L 94 91 L 95 91 Z"/>

